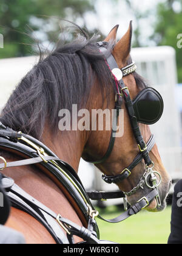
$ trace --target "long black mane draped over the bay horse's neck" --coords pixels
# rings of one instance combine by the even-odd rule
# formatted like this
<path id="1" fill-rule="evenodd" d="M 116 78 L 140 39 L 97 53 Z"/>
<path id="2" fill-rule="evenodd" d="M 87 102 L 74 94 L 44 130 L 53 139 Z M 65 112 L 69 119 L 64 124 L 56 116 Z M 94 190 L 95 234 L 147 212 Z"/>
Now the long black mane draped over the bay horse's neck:
<path id="1" fill-rule="evenodd" d="M 79 36 L 39 60 L 13 91 L 0 121 L 41 140 L 46 122 L 54 133 L 58 132 L 59 110 L 71 110 L 72 104 L 84 107 L 95 80 L 107 96 L 113 79 L 96 41 L 96 36 L 91 39 Z M 111 49 L 112 43 L 108 54 Z M 136 74 L 135 79 L 137 84 L 143 84 Z M 113 88 L 116 90 L 115 86 Z"/>

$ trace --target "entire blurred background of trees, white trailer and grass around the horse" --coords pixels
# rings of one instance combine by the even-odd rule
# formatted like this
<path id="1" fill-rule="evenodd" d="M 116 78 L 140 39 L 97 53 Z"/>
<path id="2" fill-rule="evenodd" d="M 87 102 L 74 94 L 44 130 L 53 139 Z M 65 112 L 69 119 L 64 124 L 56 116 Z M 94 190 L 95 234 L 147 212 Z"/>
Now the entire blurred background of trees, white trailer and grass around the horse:
<path id="1" fill-rule="evenodd" d="M 71 25 L 59 18 L 75 22 L 90 35 L 100 34 L 101 39 L 120 24 L 118 40 L 133 20 L 132 59 L 138 66 L 137 72 L 163 96 L 164 115 L 151 130 L 175 184 L 182 178 L 182 0 L 1 0 L 0 34 L 4 48 L 0 44 L 0 108 L 38 61 L 36 42 L 46 51 L 52 50 L 60 39 L 72 41 L 75 37 Z M 102 182 L 101 173 L 83 160 L 79 176 L 87 191 L 117 190 Z M 96 204 L 107 218 L 123 210 L 121 200 Z M 98 223 L 103 239 L 167 243 L 170 206 L 163 213 L 143 212 L 121 224 Z"/>

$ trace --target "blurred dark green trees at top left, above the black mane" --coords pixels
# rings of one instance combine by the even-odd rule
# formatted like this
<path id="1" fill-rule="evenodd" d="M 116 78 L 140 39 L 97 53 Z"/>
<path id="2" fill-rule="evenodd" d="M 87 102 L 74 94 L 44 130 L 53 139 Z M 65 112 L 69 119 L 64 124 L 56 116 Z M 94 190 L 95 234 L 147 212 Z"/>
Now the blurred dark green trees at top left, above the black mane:
<path id="1" fill-rule="evenodd" d="M 95 0 L 94 0 L 95 1 Z M 4 35 L 4 50 L 1 58 L 30 55 L 32 52 L 31 40 L 25 33 L 33 35 L 39 40 L 48 41 L 53 36 L 53 30 L 58 30 L 53 24 L 42 16 L 58 16 L 76 21 L 81 18 L 85 26 L 84 14 L 94 11 L 94 1 L 89 0 L 1 0 L 0 4 L 0 34 Z M 52 26 L 49 26 L 50 23 Z M 52 38 L 51 38 L 52 39 Z"/>

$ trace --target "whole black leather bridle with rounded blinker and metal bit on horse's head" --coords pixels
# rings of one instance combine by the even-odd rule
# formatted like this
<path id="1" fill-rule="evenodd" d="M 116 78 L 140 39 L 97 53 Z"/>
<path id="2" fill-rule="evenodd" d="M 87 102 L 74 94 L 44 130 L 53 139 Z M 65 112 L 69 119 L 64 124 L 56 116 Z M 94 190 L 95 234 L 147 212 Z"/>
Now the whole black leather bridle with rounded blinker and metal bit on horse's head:
<path id="1" fill-rule="evenodd" d="M 107 55 L 107 45 L 107 42 L 98 43 L 99 51 L 101 51 L 105 56 Z M 110 71 L 112 72 L 113 79 L 115 80 L 118 88 L 118 93 L 116 93 L 115 97 L 116 116 L 115 119 L 113 119 L 112 134 L 106 154 L 100 160 L 96 160 L 90 163 L 103 163 L 107 160 L 107 158 L 109 158 L 110 154 L 112 153 L 116 137 L 115 133 L 117 120 L 118 116 L 120 115 L 121 106 L 124 100 L 127 108 L 127 113 L 130 118 L 130 124 L 132 126 L 133 134 L 135 136 L 136 143 L 138 144 L 140 153 L 135 157 L 133 162 L 129 166 L 127 166 L 127 168 L 121 171 L 119 175 L 106 176 L 103 174 L 102 178 L 107 183 L 119 183 L 124 179 L 127 179 L 132 173 L 132 169 L 135 168 L 135 166 L 138 165 L 142 160 L 144 160 L 146 164 L 146 171 L 144 172 L 143 177 L 141 177 L 140 182 L 131 191 L 123 193 L 127 197 L 132 196 L 140 188 L 144 189 L 143 187 L 144 185 L 146 185 L 151 190 L 157 190 L 157 195 L 155 196 L 155 199 L 157 200 L 157 204 L 159 207 L 161 206 L 161 200 L 158 193 L 158 186 L 161 183 L 161 175 L 159 172 L 153 171 L 154 163 L 149 156 L 149 152 L 152 150 L 155 144 L 155 138 L 153 135 L 151 135 L 148 143 L 146 144 L 143 140 L 143 136 L 141 135 L 138 122 L 144 124 L 156 123 L 161 118 L 161 115 L 163 113 L 163 99 L 158 91 L 153 88 L 147 87 L 144 88 L 144 90 L 142 90 L 136 96 L 134 101 L 132 101 L 132 99 L 130 98 L 129 88 L 124 84 L 123 77 L 136 71 L 135 62 L 132 62 L 132 64 L 120 69 L 118 68 L 118 64 L 116 63 L 115 58 L 112 54 L 110 54 L 109 57 L 106 58 L 106 63 L 107 66 L 109 66 Z M 157 182 L 157 176 L 159 178 L 159 182 Z M 147 200 L 147 197 L 143 197 L 143 199 L 146 201 L 146 206 L 148 206 L 149 201 Z"/>

